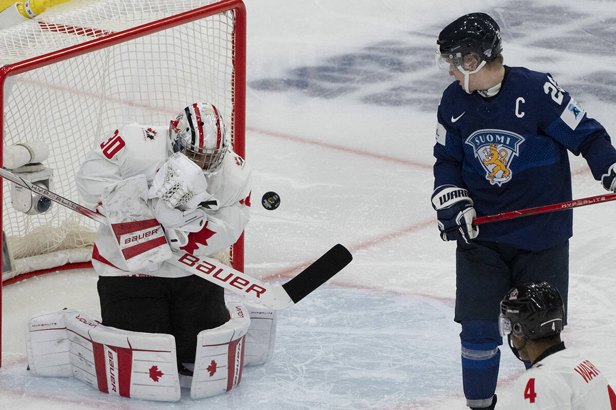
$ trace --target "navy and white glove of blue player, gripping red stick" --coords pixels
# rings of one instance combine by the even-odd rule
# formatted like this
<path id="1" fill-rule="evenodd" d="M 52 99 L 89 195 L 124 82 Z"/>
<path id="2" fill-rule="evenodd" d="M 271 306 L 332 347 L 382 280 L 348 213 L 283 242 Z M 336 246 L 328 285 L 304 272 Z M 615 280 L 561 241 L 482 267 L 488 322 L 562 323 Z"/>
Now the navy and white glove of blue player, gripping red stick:
<path id="1" fill-rule="evenodd" d="M 439 218 L 442 240 L 463 240 L 469 243 L 479 235 L 479 227 L 472 225 L 477 213 L 466 189 L 441 185 L 432 193 L 432 207 Z"/>

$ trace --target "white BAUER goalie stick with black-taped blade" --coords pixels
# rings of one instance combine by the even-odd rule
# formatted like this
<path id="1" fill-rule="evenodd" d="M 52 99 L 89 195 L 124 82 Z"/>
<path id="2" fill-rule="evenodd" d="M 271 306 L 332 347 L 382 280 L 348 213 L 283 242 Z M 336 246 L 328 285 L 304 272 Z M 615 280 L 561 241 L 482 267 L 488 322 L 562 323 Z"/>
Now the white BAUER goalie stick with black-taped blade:
<path id="1" fill-rule="evenodd" d="M 100 223 L 107 223 L 107 218 L 100 213 L 61 197 L 44 187 L 26 181 L 9 170 L 0 168 L 0 176 L 49 198 L 64 207 L 81 213 L 81 215 L 85 215 Z M 190 253 L 184 252 L 172 252 L 172 255 L 171 259 L 168 260 L 172 265 L 209 282 L 216 283 L 216 285 L 222 286 L 233 293 L 241 294 L 249 301 L 257 302 L 270 309 L 286 309 L 293 306 L 307 294 L 318 288 L 318 286 L 327 282 L 333 275 L 340 272 L 353 259 L 347 248 L 340 244 L 335 245 L 309 267 L 280 286 L 272 285 L 269 282 L 262 282 L 206 256 L 193 256 Z"/>

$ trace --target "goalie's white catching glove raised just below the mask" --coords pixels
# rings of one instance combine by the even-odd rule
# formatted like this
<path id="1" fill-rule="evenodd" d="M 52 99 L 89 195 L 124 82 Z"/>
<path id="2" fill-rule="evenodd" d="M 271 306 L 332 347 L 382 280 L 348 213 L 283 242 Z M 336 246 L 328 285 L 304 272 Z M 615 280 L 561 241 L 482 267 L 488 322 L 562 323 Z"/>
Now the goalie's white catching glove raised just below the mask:
<path id="1" fill-rule="evenodd" d="M 176 152 L 163 164 L 150 187 L 150 198 L 159 198 L 169 208 L 192 210 L 201 202 L 212 200 L 203 170 L 181 152 Z M 217 204 L 216 204 L 217 206 Z"/>

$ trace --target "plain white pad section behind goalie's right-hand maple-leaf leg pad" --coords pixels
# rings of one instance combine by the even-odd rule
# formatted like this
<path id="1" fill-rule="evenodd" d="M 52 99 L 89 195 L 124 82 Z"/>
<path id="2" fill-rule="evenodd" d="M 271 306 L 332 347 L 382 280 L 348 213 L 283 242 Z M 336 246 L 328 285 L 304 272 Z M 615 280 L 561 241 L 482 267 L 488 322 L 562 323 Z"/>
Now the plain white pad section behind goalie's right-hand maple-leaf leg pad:
<path id="1" fill-rule="evenodd" d="M 274 351 L 276 341 L 276 321 L 278 315 L 274 309 L 243 302 L 250 315 L 250 327 L 246 333 L 244 348 L 244 366 L 263 365 Z"/>

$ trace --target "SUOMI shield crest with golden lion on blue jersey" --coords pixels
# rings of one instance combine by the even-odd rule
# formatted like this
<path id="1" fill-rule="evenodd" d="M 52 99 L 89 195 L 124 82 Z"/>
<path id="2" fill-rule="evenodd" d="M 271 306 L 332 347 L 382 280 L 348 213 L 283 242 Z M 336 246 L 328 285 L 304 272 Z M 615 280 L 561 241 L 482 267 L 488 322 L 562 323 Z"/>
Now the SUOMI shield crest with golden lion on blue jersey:
<path id="1" fill-rule="evenodd" d="M 511 162 L 519 154 L 524 137 L 503 130 L 479 130 L 466 138 L 475 157 L 485 170 L 485 179 L 492 185 L 501 186 L 511 181 Z"/>

